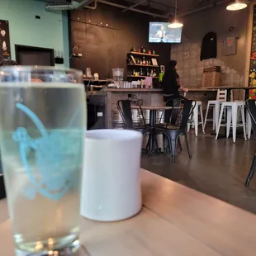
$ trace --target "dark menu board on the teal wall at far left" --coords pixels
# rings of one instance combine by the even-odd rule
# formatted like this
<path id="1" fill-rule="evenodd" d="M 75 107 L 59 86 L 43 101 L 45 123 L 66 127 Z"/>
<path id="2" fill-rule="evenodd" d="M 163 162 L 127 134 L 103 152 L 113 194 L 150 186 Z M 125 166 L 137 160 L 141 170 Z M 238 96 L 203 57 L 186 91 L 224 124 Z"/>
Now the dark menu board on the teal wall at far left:
<path id="1" fill-rule="evenodd" d="M 9 22 L 0 20 L 0 55 L 4 59 L 11 59 Z"/>

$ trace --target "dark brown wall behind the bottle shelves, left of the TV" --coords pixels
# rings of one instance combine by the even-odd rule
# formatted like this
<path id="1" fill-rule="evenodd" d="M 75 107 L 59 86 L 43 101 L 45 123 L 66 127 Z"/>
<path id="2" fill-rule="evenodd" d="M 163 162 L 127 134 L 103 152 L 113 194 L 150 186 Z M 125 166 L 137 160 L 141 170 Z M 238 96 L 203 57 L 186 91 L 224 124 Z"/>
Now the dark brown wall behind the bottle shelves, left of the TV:
<path id="1" fill-rule="evenodd" d="M 71 13 L 71 19 L 95 23 L 102 22 L 111 27 L 92 26 L 71 21 L 72 47 L 79 46 L 76 52 L 82 53 L 83 58 L 71 59 L 71 67 L 86 69 L 90 67 L 92 73 L 99 73 L 101 78 L 111 78 L 112 68 L 126 69 L 126 54 L 135 45 L 145 45 L 147 49 L 155 50 L 159 57 L 159 64 L 169 60 L 169 44 L 149 44 L 149 21 L 153 18 L 135 12 L 122 12 L 120 8 L 98 4 L 96 10 L 78 10 Z M 159 21 L 159 19 L 157 19 Z"/>

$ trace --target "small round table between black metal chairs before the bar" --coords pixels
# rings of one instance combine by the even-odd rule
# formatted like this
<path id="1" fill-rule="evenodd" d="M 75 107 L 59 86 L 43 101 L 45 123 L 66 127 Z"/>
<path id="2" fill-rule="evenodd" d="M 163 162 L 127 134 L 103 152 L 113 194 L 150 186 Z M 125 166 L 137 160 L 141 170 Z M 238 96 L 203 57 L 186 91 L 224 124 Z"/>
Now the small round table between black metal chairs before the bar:
<path id="1" fill-rule="evenodd" d="M 137 110 L 149 110 L 149 127 L 150 129 L 153 130 L 154 133 L 154 125 L 156 123 L 156 111 L 165 111 L 165 110 L 170 110 L 176 107 L 167 107 L 164 105 L 159 105 L 159 106 L 146 106 L 146 105 L 134 105 L 131 106 L 131 109 L 137 109 Z M 164 116 L 163 116 L 164 118 Z M 159 149 L 154 149 L 154 134 L 149 133 L 149 150 L 148 154 L 151 155 L 154 152 L 159 153 Z"/>

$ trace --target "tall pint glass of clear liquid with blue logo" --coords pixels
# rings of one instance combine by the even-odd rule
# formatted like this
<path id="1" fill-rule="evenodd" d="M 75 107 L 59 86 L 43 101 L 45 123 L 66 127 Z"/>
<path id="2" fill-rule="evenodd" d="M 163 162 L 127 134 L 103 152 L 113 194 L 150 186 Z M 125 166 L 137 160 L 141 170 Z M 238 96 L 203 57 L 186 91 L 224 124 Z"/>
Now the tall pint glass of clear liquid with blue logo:
<path id="1" fill-rule="evenodd" d="M 78 250 L 83 73 L 0 69 L 0 149 L 17 255 Z"/>

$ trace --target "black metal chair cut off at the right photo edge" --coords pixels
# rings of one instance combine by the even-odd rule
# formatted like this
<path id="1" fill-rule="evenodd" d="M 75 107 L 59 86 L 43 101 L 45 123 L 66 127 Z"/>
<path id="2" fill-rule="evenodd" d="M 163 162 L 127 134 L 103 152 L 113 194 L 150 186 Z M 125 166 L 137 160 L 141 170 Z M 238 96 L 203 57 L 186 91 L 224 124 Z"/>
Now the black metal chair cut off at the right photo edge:
<path id="1" fill-rule="evenodd" d="M 254 138 L 256 139 L 256 100 L 247 100 L 245 102 L 245 105 L 247 107 L 247 111 L 249 112 L 249 116 L 251 118 L 251 123 L 254 131 Z M 256 150 L 254 151 L 254 159 L 252 161 L 248 177 L 244 184 L 245 187 L 249 187 L 249 182 L 254 177 L 255 168 L 256 168 Z"/>

